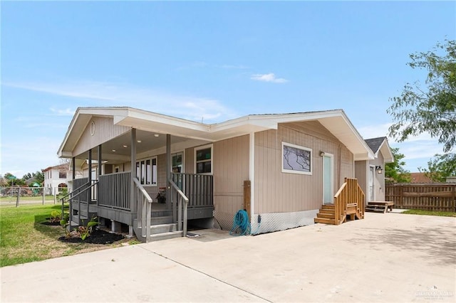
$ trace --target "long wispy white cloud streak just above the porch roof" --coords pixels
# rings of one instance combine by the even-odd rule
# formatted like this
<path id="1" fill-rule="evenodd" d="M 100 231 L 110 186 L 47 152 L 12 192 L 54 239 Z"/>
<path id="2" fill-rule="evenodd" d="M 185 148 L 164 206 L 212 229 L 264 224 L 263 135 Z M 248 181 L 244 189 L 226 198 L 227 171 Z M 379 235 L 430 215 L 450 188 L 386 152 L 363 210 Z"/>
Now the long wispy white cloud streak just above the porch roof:
<path id="1" fill-rule="evenodd" d="M 219 100 L 207 97 L 171 94 L 124 83 L 66 82 L 66 83 L 4 83 L 9 87 L 45 92 L 80 99 L 78 106 L 128 106 L 172 115 L 194 121 L 220 122 L 236 117 Z M 70 108 L 51 108 L 57 115 L 73 115 Z"/>

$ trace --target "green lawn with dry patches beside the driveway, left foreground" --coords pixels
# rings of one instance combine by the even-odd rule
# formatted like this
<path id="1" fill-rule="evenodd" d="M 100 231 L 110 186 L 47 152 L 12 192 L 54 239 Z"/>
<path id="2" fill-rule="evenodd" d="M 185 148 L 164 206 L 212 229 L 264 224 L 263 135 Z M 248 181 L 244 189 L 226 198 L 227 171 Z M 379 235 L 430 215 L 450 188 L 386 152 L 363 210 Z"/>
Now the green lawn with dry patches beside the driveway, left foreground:
<path id="1" fill-rule="evenodd" d="M 2 206 L 0 208 L 0 267 L 26 262 L 75 255 L 112 245 L 63 243 L 58 240 L 65 232 L 61 226 L 43 225 L 59 205 Z"/>

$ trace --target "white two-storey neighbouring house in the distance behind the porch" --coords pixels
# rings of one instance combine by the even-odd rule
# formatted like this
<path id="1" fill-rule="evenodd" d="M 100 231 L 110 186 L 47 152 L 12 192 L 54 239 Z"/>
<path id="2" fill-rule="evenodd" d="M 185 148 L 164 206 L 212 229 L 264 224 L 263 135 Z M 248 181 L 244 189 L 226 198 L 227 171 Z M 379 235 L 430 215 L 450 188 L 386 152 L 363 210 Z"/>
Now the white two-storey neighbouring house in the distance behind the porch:
<path id="1" fill-rule="evenodd" d="M 61 192 L 61 188 L 67 188 L 71 185 L 73 175 L 69 167 L 69 164 L 60 164 L 41 170 L 44 176 L 44 191 L 46 195 L 58 195 Z M 81 175 L 78 174 L 78 177 L 81 177 Z"/>

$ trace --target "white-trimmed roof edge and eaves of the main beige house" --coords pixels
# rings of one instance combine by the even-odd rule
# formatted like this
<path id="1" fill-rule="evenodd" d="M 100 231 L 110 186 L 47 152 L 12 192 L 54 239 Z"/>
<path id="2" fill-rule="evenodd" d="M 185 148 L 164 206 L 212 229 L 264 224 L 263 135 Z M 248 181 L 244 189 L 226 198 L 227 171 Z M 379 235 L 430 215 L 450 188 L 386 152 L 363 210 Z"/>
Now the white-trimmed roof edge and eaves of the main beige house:
<path id="1" fill-rule="evenodd" d="M 58 156 L 73 156 L 71 152 L 92 117 L 113 117 L 113 124 L 157 134 L 216 142 L 243 134 L 277 129 L 280 123 L 318 121 L 354 154 L 355 160 L 374 159 L 373 152 L 350 122 L 343 110 L 298 112 L 289 114 L 247 115 L 221 123 L 204 124 L 161 115 L 132 107 L 79 107 L 76 110 Z"/>

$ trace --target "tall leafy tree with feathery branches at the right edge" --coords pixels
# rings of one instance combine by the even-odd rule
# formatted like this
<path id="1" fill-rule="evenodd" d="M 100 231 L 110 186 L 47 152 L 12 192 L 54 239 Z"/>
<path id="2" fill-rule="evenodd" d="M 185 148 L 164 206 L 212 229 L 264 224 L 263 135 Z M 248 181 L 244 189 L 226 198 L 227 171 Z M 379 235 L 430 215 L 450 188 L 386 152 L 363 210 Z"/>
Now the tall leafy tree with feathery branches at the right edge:
<path id="1" fill-rule="evenodd" d="M 427 70 L 426 87 L 404 86 L 387 112 L 393 117 L 390 137 L 400 142 L 423 132 L 438 138 L 445 153 L 456 143 L 456 41 L 445 40 L 431 50 L 410 55 L 410 68 Z"/>

